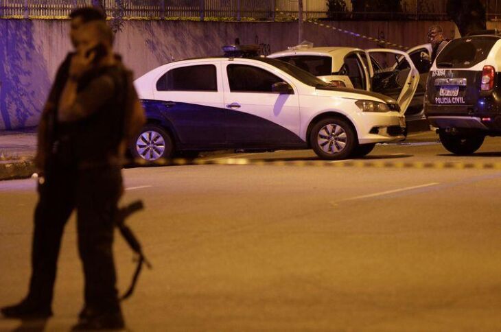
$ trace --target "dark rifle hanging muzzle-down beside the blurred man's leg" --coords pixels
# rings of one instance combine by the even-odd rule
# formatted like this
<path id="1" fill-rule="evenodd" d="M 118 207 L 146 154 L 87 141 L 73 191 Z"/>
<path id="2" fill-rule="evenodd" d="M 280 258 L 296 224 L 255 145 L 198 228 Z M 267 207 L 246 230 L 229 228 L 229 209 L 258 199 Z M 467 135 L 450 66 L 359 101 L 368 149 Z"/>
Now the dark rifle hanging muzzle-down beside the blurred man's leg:
<path id="1" fill-rule="evenodd" d="M 139 278 L 139 274 L 141 273 L 141 268 L 143 267 L 143 263 L 145 263 L 145 265 L 149 269 L 152 268 L 152 265 L 143 254 L 143 250 L 141 249 L 141 244 L 139 244 L 137 237 L 134 235 L 134 233 L 132 233 L 132 230 L 130 230 L 130 228 L 125 224 L 125 220 L 129 215 L 137 211 L 140 211 L 143 208 L 144 208 L 143 201 L 137 200 L 118 209 L 117 215 L 115 216 L 115 224 L 120 230 L 120 234 L 124 237 L 127 244 L 138 256 L 137 268 L 136 271 L 134 272 L 134 276 L 132 276 L 132 282 L 130 283 L 127 292 L 123 296 L 121 296 L 120 300 L 125 300 L 126 298 L 132 295 L 132 292 L 134 292 L 134 287 L 136 286 L 137 279 Z"/>

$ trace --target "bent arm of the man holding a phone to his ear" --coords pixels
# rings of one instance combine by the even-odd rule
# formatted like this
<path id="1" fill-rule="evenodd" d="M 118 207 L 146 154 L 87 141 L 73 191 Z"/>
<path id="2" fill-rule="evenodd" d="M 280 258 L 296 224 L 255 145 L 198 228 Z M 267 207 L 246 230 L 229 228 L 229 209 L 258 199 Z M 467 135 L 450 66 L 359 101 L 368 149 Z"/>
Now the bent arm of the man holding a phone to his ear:
<path id="1" fill-rule="evenodd" d="M 59 101 L 58 121 L 80 121 L 97 112 L 115 95 L 115 84 L 108 75 L 92 80 L 77 92 L 75 80 L 68 80 Z"/>

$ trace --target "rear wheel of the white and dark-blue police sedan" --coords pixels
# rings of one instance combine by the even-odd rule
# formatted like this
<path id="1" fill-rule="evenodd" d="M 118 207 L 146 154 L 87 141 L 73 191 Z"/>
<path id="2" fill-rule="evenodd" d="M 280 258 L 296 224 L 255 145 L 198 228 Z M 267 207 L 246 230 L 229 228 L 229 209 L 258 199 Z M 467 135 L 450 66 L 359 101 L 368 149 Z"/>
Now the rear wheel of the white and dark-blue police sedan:
<path id="1" fill-rule="evenodd" d="M 142 158 L 145 161 L 170 158 L 172 151 L 173 144 L 170 135 L 156 125 L 143 127 L 135 140 L 135 146 L 132 148 L 132 154 L 135 158 Z"/>

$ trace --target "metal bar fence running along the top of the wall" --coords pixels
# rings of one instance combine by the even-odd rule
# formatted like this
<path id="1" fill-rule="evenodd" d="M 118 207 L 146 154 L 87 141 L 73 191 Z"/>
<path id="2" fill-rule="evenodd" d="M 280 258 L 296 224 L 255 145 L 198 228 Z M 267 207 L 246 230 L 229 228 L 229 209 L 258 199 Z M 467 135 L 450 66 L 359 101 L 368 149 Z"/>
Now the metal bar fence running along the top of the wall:
<path id="1" fill-rule="evenodd" d="M 488 19 L 501 12 L 497 1 L 487 0 Z M 0 0 L 0 17 L 62 19 L 74 8 L 95 3 L 102 3 L 110 17 L 122 9 L 130 19 L 291 20 L 298 14 L 298 0 Z M 400 3 L 392 12 L 353 12 L 351 0 L 345 0 L 346 10 L 329 16 L 327 0 L 303 0 L 303 13 L 309 19 L 447 19 L 447 0 Z"/>

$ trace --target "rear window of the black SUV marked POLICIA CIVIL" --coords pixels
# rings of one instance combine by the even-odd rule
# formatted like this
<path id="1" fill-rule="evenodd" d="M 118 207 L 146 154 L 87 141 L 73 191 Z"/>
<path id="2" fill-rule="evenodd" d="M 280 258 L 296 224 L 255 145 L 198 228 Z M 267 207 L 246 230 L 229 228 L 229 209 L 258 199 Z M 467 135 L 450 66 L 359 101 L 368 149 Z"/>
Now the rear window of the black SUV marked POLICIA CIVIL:
<path id="1" fill-rule="evenodd" d="M 487 58 L 499 39 L 496 36 L 479 36 L 452 40 L 436 58 L 436 67 L 473 67 Z"/>

